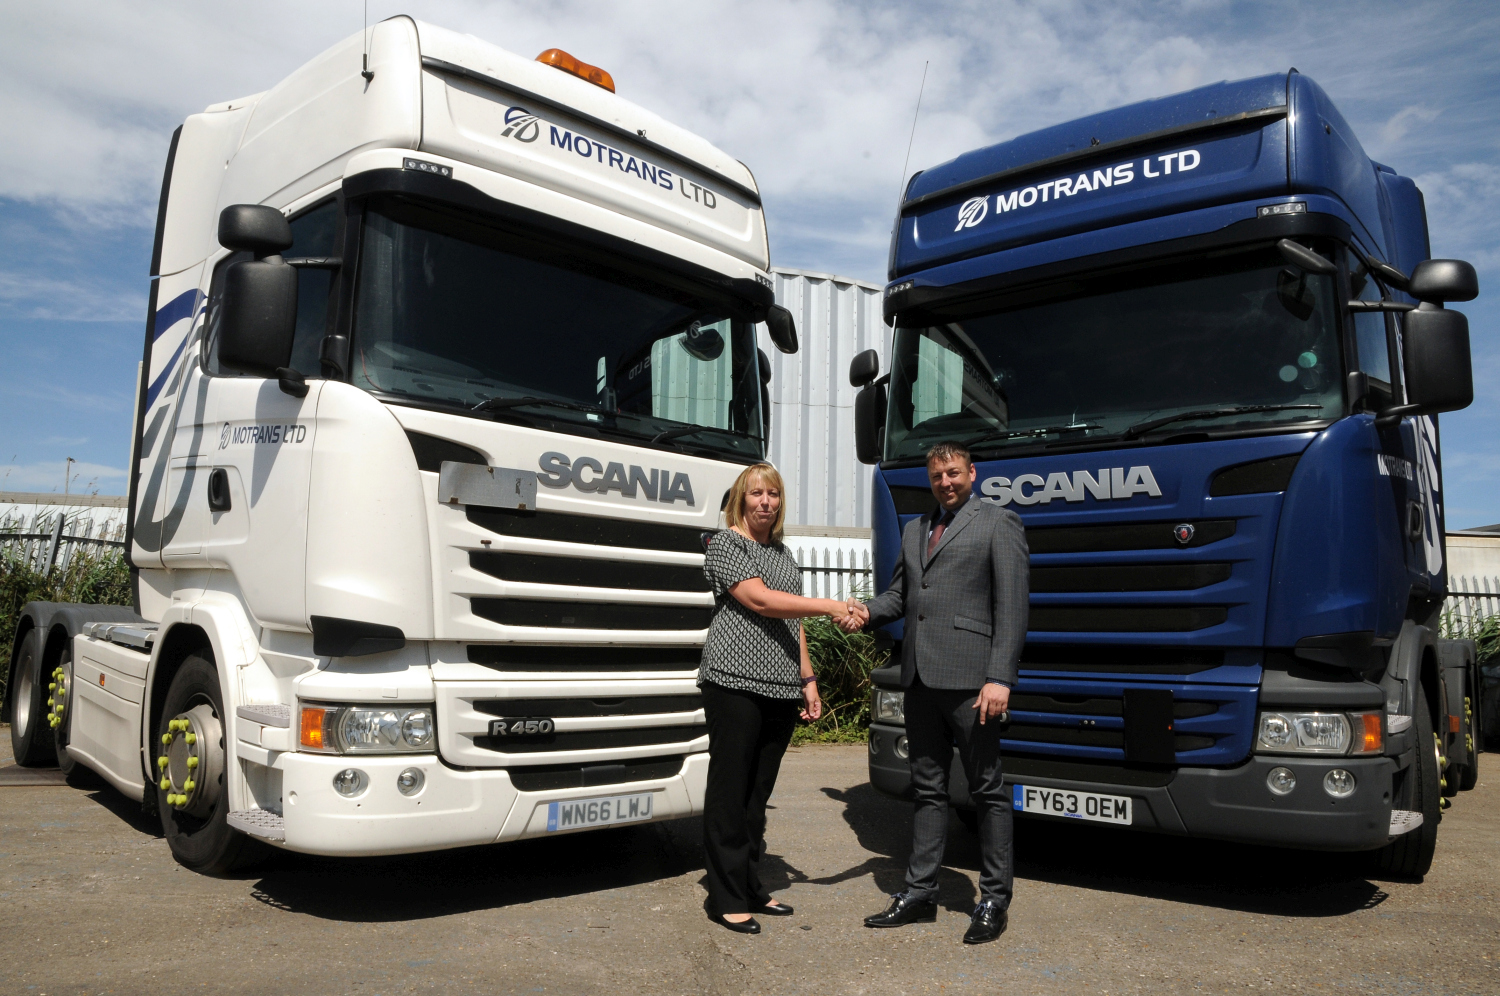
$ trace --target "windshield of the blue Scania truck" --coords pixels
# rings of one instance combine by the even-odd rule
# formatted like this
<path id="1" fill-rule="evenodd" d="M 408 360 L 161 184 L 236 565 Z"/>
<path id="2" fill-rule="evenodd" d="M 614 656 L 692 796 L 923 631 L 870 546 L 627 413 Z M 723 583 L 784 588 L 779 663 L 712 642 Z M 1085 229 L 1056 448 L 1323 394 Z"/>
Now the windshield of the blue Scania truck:
<path id="1" fill-rule="evenodd" d="M 1334 288 L 1268 249 L 1072 279 L 897 328 L 885 459 L 921 459 L 942 440 L 1004 452 L 1336 418 Z"/>

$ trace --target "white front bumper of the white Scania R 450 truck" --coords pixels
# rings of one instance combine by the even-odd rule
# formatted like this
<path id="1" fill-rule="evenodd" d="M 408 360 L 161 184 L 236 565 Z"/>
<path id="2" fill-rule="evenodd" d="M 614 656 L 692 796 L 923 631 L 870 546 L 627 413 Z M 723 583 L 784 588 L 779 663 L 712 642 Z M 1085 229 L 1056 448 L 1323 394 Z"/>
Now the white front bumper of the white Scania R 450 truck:
<path id="1" fill-rule="evenodd" d="M 615 795 L 652 794 L 650 822 L 696 816 L 704 810 L 708 754 L 688 754 L 670 777 L 590 788 L 522 792 L 501 768 L 459 770 L 436 754 L 326 756 L 286 752 L 272 765 L 282 778 L 282 825 L 288 850 L 318 855 L 386 855 L 465 848 L 548 834 L 548 804 Z M 345 798 L 333 776 L 358 768 L 369 784 Z M 406 796 L 396 776 L 420 768 L 426 782 Z M 576 831 L 556 831 L 576 832 Z"/>

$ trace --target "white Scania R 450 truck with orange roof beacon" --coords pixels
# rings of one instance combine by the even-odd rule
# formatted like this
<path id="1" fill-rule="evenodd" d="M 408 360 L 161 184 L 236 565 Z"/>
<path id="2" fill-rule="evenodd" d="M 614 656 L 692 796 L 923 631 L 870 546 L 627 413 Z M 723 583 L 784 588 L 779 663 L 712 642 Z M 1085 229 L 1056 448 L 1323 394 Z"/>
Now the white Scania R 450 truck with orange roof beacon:
<path id="1" fill-rule="evenodd" d="M 20 764 L 207 873 L 700 812 L 704 534 L 768 432 L 748 168 L 398 16 L 172 136 L 135 606 L 24 608 Z"/>

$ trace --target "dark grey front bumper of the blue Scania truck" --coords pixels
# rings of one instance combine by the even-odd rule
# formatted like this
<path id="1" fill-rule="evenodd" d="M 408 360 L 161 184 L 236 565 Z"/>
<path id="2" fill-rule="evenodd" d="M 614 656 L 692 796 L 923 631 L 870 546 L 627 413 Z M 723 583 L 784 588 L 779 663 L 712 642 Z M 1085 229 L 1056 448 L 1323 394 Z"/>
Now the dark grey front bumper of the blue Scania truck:
<path id="1" fill-rule="evenodd" d="M 894 752 L 896 740 L 904 732 L 898 726 L 870 726 L 870 783 L 898 798 L 910 798 L 910 770 Z M 1396 770 L 1390 758 L 1256 756 L 1233 768 L 1161 771 L 1155 778 L 1161 784 L 1122 784 L 1119 780 L 1059 778 L 1028 772 L 1028 768 L 1044 764 L 1036 764 L 1040 760 L 1006 756 L 1002 762 L 1005 783 L 1128 795 L 1136 801 L 1136 830 L 1311 850 L 1372 850 L 1389 840 L 1390 777 Z M 1268 772 L 1278 766 L 1292 768 L 1298 777 L 1290 795 L 1276 796 L 1266 788 Z M 1323 792 L 1323 776 L 1332 768 L 1342 768 L 1354 776 L 1354 794 L 1348 798 L 1335 800 Z M 1106 778 L 1118 770 L 1101 766 L 1100 771 L 1100 777 Z M 957 754 L 950 768 L 948 784 L 954 806 L 974 806 Z"/>

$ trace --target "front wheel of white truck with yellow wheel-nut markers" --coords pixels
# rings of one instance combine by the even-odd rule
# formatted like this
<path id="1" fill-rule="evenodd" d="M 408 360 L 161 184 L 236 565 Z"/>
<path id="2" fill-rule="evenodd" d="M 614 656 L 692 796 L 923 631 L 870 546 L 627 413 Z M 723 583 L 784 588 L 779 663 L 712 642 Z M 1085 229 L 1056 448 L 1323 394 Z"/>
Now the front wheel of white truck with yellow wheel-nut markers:
<path id="1" fill-rule="evenodd" d="M 225 874 L 262 856 L 260 842 L 226 820 L 224 694 L 207 651 L 190 656 L 172 676 L 153 754 L 156 808 L 178 864 Z"/>

